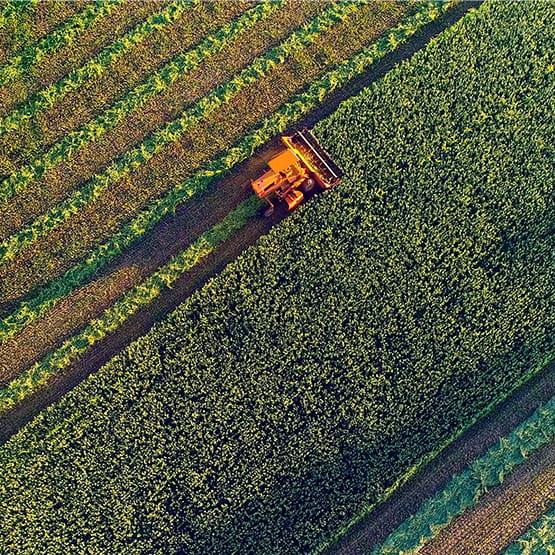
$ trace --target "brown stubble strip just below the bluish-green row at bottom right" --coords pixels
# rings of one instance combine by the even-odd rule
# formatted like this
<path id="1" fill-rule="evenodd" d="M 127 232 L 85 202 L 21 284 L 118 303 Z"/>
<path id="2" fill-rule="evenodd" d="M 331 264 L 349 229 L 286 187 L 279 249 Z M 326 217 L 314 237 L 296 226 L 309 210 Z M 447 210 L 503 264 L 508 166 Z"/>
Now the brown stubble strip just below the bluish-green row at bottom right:
<path id="1" fill-rule="evenodd" d="M 493 555 L 520 537 L 555 501 L 555 442 L 536 451 L 478 505 L 455 518 L 419 553 Z"/>

